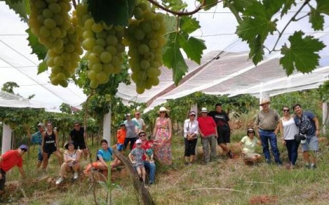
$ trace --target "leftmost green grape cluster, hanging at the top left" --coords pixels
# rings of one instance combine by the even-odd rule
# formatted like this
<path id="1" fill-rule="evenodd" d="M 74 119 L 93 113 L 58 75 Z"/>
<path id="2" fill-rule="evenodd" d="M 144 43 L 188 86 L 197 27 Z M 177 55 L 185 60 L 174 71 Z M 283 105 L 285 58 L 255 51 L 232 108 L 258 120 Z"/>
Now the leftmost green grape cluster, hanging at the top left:
<path id="1" fill-rule="evenodd" d="M 30 1 L 29 25 L 39 42 L 48 48 L 46 63 L 51 67 L 50 81 L 53 85 L 67 87 L 67 78 L 78 66 L 82 28 L 70 18 L 68 0 Z"/>

